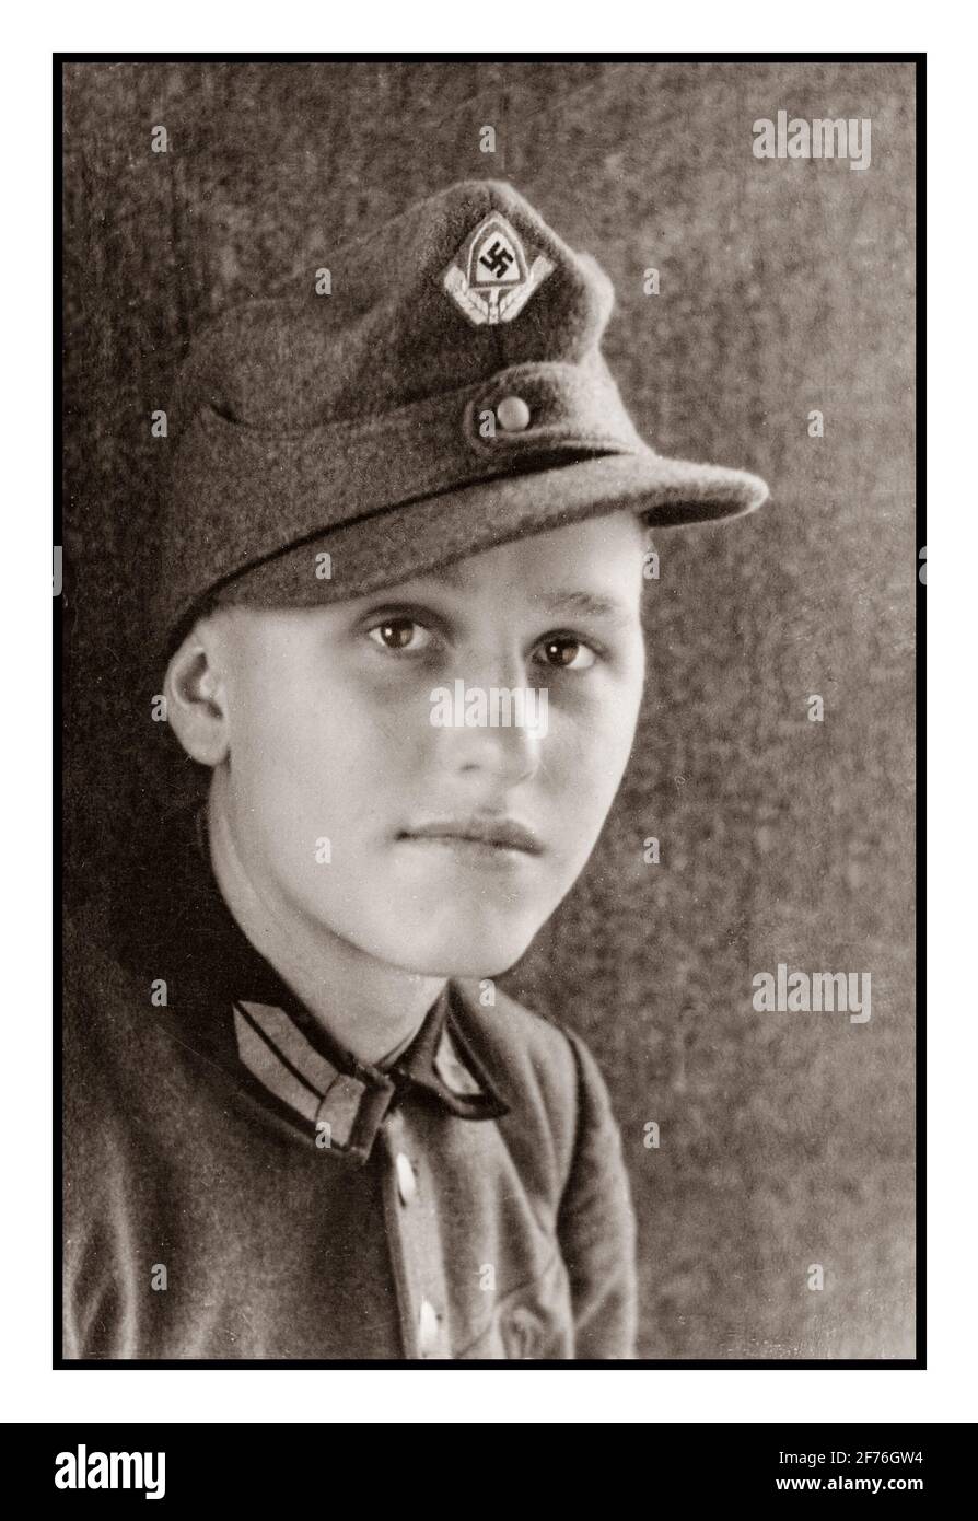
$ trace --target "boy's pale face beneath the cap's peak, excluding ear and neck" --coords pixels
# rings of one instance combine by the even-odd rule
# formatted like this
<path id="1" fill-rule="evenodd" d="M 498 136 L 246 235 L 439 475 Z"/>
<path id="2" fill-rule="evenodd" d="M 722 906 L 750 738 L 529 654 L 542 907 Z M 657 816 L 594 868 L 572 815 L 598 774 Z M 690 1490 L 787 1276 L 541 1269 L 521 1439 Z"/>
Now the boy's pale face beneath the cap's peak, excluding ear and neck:
<path id="1" fill-rule="evenodd" d="M 417 973 L 513 966 L 584 867 L 628 759 L 643 545 L 622 511 L 321 608 L 224 610 L 211 809 L 259 896 Z M 546 687 L 546 722 L 433 724 L 432 694 L 456 681 L 487 700 Z M 475 817 L 535 849 L 459 840 Z"/>

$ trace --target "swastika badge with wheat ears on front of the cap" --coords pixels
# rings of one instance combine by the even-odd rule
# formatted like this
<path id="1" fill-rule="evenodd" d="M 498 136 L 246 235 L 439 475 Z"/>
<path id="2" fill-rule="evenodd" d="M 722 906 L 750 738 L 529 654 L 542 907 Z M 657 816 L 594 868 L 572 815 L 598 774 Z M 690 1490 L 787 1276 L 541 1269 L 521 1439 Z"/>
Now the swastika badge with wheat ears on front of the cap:
<path id="1" fill-rule="evenodd" d="M 468 234 L 444 272 L 444 287 L 470 322 L 511 322 L 554 269 L 537 254 L 532 263 L 520 234 L 493 211 Z"/>

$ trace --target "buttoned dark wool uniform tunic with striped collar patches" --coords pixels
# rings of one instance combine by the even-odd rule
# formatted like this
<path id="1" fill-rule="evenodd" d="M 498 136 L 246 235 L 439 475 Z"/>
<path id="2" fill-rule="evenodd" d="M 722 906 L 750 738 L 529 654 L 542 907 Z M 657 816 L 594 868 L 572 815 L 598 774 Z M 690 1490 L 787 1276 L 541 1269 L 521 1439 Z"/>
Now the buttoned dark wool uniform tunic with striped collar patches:
<path id="1" fill-rule="evenodd" d="M 64 1358 L 633 1357 L 581 1037 L 450 981 L 367 1066 L 236 923 L 201 814 L 169 838 L 116 954 L 99 910 L 65 940 Z"/>

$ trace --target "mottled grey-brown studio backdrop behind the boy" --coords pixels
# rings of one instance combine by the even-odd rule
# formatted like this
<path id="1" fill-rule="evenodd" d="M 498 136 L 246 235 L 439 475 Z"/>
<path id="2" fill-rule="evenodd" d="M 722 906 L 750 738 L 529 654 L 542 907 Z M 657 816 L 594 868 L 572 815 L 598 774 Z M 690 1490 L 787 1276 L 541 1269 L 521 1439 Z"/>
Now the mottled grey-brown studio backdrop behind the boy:
<path id="1" fill-rule="evenodd" d="M 149 722 L 143 662 L 148 418 L 190 332 L 453 179 L 511 179 L 611 274 L 605 351 L 639 427 L 757 470 L 773 500 L 659 535 L 630 770 L 505 984 L 607 1074 L 642 1355 L 913 1355 L 913 65 L 87 64 L 65 81 L 68 902 L 103 879 L 125 893 L 140 820 L 192 785 Z M 756 160 L 751 123 L 779 110 L 870 117 L 872 167 Z M 158 123 L 167 155 L 149 152 Z M 751 976 L 779 961 L 872 972 L 872 1021 L 754 1013 Z"/>

